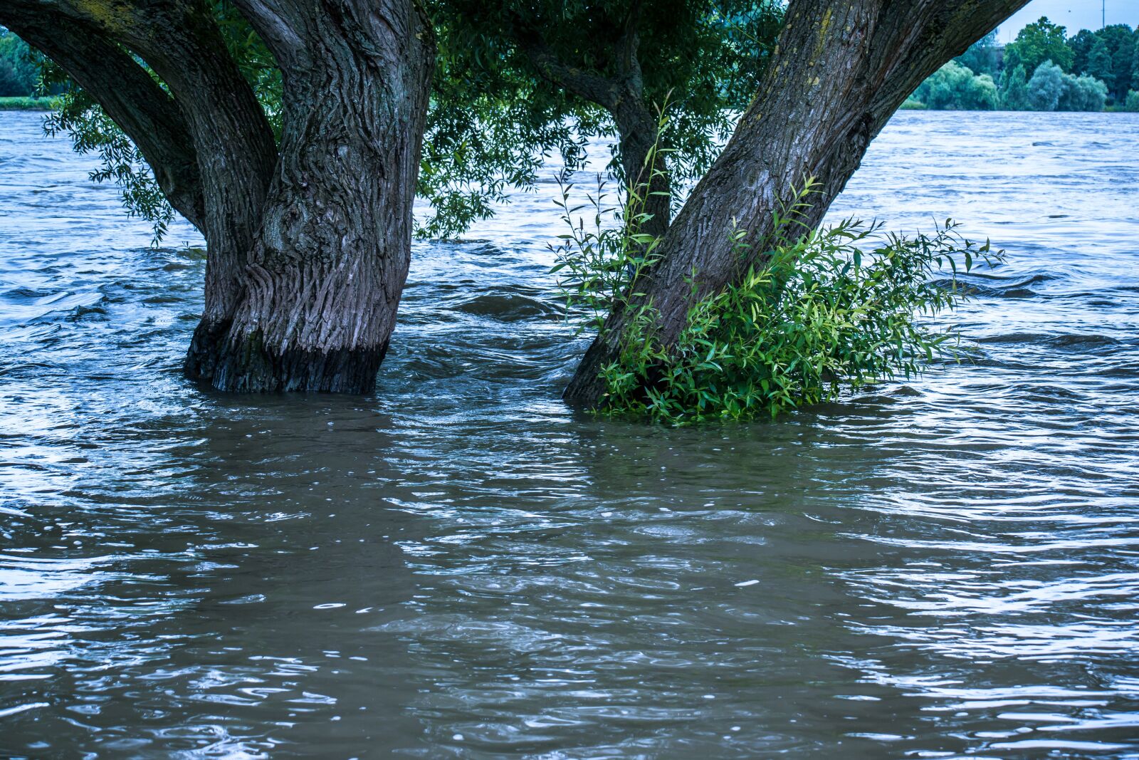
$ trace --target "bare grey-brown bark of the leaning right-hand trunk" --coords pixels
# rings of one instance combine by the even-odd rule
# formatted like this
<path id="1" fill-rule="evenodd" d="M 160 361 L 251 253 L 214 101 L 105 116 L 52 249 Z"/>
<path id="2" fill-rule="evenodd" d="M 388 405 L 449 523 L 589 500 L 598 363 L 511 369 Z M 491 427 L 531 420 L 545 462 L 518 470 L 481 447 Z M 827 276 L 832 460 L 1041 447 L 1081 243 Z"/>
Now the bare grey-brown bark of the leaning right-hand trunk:
<path id="1" fill-rule="evenodd" d="M 820 194 L 803 221 L 817 226 L 909 93 L 1026 3 L 792 0 L 755 100 L 639 284 L 659 312 L 658 340 L 675 341 L 694 296 L 723 288 L 756 262 L 772 232 L 772 211 L 812 177 Z M 734 252 L 734 224 L 747 231 L 749 255 Z M 601 400 L 598 374 L 617 357 L 628 317 L 616 311 L 606 320 L 566 389 L 567 400 Z"/>

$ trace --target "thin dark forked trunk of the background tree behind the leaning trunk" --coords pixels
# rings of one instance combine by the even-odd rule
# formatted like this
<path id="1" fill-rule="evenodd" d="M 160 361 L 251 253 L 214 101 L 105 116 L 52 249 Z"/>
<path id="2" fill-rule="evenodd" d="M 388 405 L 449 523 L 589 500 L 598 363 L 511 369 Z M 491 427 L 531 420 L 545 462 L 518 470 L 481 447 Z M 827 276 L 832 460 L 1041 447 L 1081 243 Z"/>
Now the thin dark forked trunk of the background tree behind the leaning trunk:
<path id="1" fill-rule="evenodd" d="M 634 1 L 613 46 L 616 62 L 614 77 L 565 64 L 527 19 L 515 21 L 513 36 L 543 79 L 601 106 L 613 116 L 625 181 L 647 189 L 642 213 L 649 219 L 640 231 L 659 237 L 669 229 L 672 219 L 671 182 L 663 155 L 656 161 L 657 171 L 646 170 L 649 152 L 656 142 L 658 119 L 653 106 L 645 100 L 645 82 L 637 57 L 640 13 L 641 2 Z"/>

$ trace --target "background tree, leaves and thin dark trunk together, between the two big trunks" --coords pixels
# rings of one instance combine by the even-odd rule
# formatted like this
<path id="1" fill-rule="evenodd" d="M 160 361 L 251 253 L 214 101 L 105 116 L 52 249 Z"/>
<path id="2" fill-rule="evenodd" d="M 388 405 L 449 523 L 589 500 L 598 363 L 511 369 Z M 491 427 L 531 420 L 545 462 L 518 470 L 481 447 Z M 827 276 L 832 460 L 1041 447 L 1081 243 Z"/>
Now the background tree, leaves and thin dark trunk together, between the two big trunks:
<path id="1" fill-rule="evenodd" d="M 566 149 L 571 134 L 555 129 L 574 120 L 580 138 L 614 134 L 615 173 L 634 180 L 667 99 L 671 117 L 661 136 L 666 153 L 658 156 L 664 171 L 646 177 L 652 219 L 644 231 L 658 235 L 671 216 L 672 183 L 711 165 L 734 115 L 747 106 L 781 7 L 773 0 L 448 0 L 434 3 L 432 14 L 448 74 L 436 88 L 436 101 L 444 104 L 439 119 L 476 115 L 466 120 L 464 145 L 500 144 L 485 136 L 510 133 L 500 126 L 506 117 L 525 125 L 514 133 L 515 150 L 549 149 L 543 140 L 554 137 L 564 156 L 576 157 Z M 519 113 L 503 101 L 525 106 Z M 446 163 L 431 137 L 427 149 L 426 163 Z M 458 169 L 449 175 L 464 177 L 461 166 L 449 166 Z"/>

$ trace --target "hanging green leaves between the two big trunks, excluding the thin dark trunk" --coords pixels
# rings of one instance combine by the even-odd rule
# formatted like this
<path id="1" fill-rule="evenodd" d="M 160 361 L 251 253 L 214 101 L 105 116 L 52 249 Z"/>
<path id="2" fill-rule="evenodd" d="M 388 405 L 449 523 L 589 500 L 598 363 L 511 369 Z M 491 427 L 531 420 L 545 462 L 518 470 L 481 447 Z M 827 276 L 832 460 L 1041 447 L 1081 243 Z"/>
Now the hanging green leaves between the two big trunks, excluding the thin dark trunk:
<path id="1" fill-rule="evenodd" d="M 748 104 L 779 32 L 776 0 L 434 0 L 440 55 L 420 191 L 435 216 L 421 234 L 453 235 L 492 213 L 510 187 L 530 188 L 541 160 L 580 166 L 583 145 L 613 137 L 612 114 L 550 81 L 519 40 L 576 74 L 620 80 L 618 48 L 632 14 L 647 104 L 673 103 L 666 170 L 702 175 Z M 671 93 L 671 95 L 670 95 Z M 620 146 L 609 171 L 624 181 Z"/>

